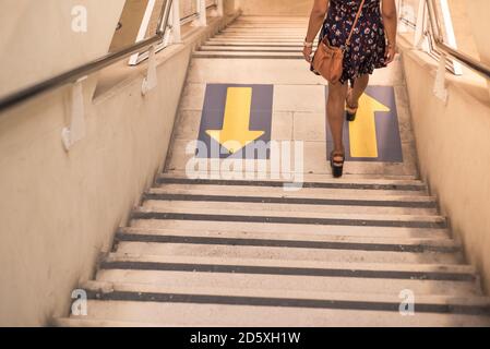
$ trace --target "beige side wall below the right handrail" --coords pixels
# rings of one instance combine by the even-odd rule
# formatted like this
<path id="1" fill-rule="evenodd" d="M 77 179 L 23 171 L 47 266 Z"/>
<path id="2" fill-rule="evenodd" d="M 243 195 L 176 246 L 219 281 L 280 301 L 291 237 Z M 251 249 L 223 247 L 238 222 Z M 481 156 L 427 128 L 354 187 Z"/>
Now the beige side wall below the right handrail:
<path id="1" fill-rule="evenodd" d="M 490 98 L 485 82 L 447 74 L 449 100 L 432 93 L 435 62 L 403 46 L 420 172 L 490 291 Z"/>

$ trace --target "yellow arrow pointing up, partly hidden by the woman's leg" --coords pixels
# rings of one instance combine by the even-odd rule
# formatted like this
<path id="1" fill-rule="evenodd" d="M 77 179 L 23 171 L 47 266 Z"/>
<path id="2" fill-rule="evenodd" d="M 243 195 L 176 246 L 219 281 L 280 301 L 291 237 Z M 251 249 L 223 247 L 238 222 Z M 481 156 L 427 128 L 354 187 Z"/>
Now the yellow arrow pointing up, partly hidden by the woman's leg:
<path id="1" fill-rule="evenodd" d="M 349 123 L 350 154 L 352 157 L 379 157 L 374 118 L 378 111 L 390 111 L 390 108 L 363 94 L 359 99 L 356 121 Z"/>

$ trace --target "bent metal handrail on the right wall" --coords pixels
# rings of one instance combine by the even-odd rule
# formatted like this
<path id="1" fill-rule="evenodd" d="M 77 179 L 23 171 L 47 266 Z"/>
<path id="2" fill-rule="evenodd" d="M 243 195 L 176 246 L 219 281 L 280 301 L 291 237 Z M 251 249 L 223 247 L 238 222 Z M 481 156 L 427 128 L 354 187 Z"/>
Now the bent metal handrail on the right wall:
<path id="1" fill-rule="evenodd" d="M 461 52 L 459 50 L 449 46 L 444 43 L 444 36 L 442 35 L 441 22 L 439 21 L 439 16 L 435 11 L 435 0 L 426 0 L 428 12 L 429 12 L 429 22 L 433 33 L 433 44 L 434 46 L 445 56 L 451 57 L 454 60 L 457 60 L 467 68 L 476 71 L 483 77 L 490 80 L 490 65 L 485 64 L 482 62 L 477 61 L 473 57 Z"/>

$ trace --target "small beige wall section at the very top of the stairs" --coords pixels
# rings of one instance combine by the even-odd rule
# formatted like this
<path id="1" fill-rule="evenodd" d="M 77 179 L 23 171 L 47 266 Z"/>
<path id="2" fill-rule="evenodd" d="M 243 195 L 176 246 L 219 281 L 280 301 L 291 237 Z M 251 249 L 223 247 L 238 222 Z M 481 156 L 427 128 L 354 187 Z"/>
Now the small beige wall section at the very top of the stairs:
<path id="1" fill-rule="evenodd" d="M 308 16 L 313 0 L 239 0 L 243 15 Z"/>

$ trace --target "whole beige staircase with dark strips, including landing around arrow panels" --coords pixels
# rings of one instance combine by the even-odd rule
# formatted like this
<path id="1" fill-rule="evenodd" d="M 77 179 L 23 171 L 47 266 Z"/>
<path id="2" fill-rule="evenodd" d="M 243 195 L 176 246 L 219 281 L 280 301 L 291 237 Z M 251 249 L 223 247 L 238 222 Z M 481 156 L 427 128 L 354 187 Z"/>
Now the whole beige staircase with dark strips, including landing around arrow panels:
<path id="1" fill-rule="evenodd" d="M 195 52 L 166 171 L 81 286 L 88 315 L 59 326 L 490 325 L 478 275 L 418 179 L 399 65 L 373 82 L 397 92 L 404 161 L 351 161 L 331 178 L 322 104 L 301 104 L 324 92 L 298 59 L 306 23 L 240 17 Z M 188 179 L 208 83 L 274 84 L 273 139 L 308 140 L 302 190 Z M 410 297 L 415 314 L 401 313 Z"/>

